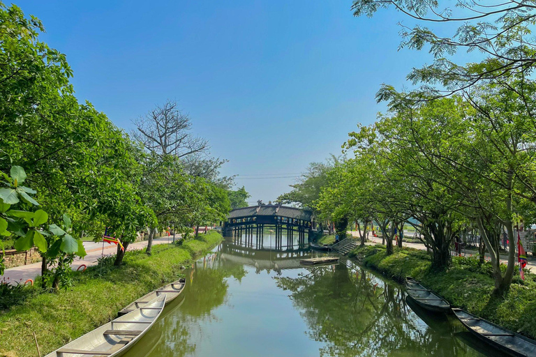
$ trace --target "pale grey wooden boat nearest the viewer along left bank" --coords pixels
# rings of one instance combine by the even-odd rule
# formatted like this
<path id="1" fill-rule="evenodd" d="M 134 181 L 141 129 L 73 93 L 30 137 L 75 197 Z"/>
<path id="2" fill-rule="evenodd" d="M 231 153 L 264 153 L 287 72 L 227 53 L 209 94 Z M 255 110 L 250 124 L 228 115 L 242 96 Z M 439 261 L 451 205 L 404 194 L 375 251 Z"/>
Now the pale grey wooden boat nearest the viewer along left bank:
<path id="1" fill-rule="evenodd" d="M 149 331 L 164 310 L 164 306 L 165 295 L 158 296 L 144 307 L 78 337 L 45 357 L 119 357 Z"/>

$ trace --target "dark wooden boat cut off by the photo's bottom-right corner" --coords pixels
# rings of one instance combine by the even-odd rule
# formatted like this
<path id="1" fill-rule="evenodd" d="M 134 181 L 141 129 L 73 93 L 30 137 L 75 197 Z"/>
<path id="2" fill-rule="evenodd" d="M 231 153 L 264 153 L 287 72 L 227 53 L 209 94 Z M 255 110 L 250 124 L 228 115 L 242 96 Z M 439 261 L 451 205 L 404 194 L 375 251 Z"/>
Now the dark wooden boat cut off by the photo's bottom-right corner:
<path id="1" fill-rule="evenodd" d="M 528 337 L 509 331 L 506 328 L 497 326 L 484 319 L 480 319 L 461 309 L 453 308 L 452 312 L 454 312 L 461 324 L 466 326 L 470 333 L 479 337 L 479 339 L 484 342 L 491 344 L 491 346 L 496 347 L 496 349 L 499 349 L 510 356 L 536 356 L 535 340 L 530 340 Z"/>

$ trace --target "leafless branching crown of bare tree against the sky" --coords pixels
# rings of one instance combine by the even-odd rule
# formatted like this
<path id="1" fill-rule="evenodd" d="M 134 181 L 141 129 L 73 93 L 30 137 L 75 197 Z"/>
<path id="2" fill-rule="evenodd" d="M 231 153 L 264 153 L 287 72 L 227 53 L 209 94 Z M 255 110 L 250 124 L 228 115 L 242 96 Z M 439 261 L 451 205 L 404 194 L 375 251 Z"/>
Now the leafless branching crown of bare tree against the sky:
<path id="1" fill-rule="evenodd" d="M 134 121 L 135 139 L 148 151 L 177 158 L 209 149 L 209 143 L 191 135 L 191 119 L 183 114 L 176 101 L 168 100 Z"/>

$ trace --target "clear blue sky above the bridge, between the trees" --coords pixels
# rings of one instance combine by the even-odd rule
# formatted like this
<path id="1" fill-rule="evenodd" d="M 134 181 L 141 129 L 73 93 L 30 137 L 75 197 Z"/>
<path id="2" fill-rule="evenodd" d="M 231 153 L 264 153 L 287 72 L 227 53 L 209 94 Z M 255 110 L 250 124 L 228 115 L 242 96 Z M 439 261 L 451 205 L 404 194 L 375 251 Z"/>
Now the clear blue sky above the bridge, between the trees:
<path id="1" fill-rule="evenodd" d="M 65 53 L 80 101 L 121 128 L 166 99 L 226 158 L 251 201 L 288 191 L 308 162 L 374 121 L 382 83 L 431 58 L 398 51 L 402 20 L 353 17 L 351 1 L 17 1 Z M 410 23 L 407 23 L 410 25 Z M 254 179 L 258 174 L 285 176 Z"/>

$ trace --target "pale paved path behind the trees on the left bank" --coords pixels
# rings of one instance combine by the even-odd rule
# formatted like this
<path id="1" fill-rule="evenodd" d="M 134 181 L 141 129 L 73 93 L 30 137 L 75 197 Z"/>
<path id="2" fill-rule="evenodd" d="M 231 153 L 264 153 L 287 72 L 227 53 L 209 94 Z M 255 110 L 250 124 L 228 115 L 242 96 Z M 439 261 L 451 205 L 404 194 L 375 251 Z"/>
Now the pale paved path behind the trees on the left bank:
<path id="1" fill-rule="evenodd" d="M 179 238 L 179 235 L 177 234 L 177 238 Z M 173 241 L 173 236 L 164 237 L 164 238 L 156 238 L 153 240 L 153 244 L 164 244 L 164 243 L 171 243 Z M 129 250 L 140 250 L 147 247 L 147 241 L 141 241 L 137 243 L 132 243 L 131 245 L 128 245 L 127 251 Z M 79 266 L 82 266 L 85 264 L 86 266 L 94 266 L 97 265 L 97 259 L 101 257 L 101 254 L 103 253 L 103 243 L 95 243 L 95 242 L 84 242 L 84 248 L 86 248 L 87 255 L 83 258 L 77 258 L 75 261 L 73 261 L 73 265 L 71 268 L 73 268 L 73 271 L 75 271 Z M 104 255 L 114 255 L 117 251 L 117 245 L 115 244 L 108 244 L 104 243 Z M 15 266 L 15 268 L 8 268 L 6 271 L 3 272 L 3 275 L 0 275 L 0 280 L 3 280 L 3 278 L 9 279 L 11 283 L 15 282 L 25 282 L 28 279 L 35 279 L 41 275 L 41 262 L 34 264 L 28 264 L 23 266 Z"/>

